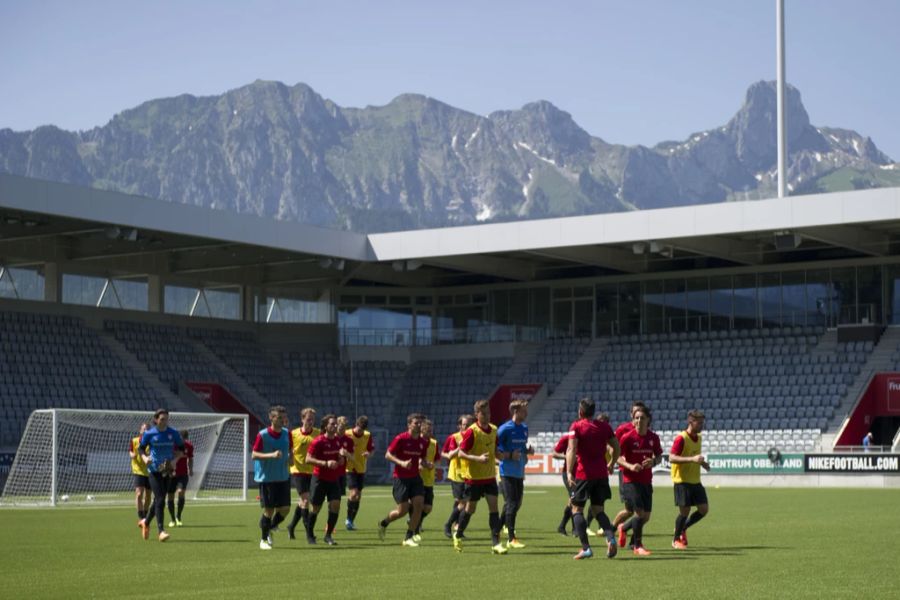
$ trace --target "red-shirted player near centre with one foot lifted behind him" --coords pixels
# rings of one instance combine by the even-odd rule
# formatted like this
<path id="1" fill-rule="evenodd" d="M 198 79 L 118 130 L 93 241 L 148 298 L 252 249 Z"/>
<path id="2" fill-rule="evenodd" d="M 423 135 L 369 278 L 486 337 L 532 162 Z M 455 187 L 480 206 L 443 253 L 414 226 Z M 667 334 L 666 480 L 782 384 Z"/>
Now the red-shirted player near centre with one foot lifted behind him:
<path id="1" fill-rule="evenodd" d="M 378 537 L 384 541 L 387 526 L 400 517 L 410 513 L 406 526 L 406 537 L 403 545 L 418 548 L 413 539 L 416 527 L 422 518 L 422 506 L 425 499 L 425 484 L 419 474 L 419 465 L 426 468 L 434 463 L 426 460 L 428 440 L 422 437 L 422 422 L 425 415 L 412 413 L 406 417 L 406 431 L 397 435 L 388 446 L 384 457 L 394 463 L 394 501 L 397 507 L 378 523 Z M 410 510 L 411 509 L 411 510 Z"/>

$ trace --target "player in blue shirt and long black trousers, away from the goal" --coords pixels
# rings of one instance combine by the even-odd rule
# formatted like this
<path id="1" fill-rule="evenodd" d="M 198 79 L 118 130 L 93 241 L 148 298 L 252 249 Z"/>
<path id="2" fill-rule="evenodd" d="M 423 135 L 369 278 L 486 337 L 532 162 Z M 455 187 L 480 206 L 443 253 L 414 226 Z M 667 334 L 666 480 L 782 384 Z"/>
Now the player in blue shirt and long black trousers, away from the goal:
<path id="1" fill-rule="evenodd" d="M 534 450 L 528 446 L 528 401 L 509 403 L 512 418 L 497 430 L 497 453 L 500 457 L 500 489 L 503 491 L 503 510 L 500 525 L 507 529 L 507 548 L 524 548 L 516 538 L 516 515 L 522 508 L 525 493 L 525 464 Z"/>

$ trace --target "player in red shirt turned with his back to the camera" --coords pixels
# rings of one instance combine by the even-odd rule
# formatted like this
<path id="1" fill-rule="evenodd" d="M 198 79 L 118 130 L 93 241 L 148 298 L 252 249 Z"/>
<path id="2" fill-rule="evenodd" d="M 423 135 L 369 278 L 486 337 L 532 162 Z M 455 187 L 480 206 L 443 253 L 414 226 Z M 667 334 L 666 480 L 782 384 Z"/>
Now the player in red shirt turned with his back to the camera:
<path id="1" fill-rule="evenodd" d="M 581 540 L 581 552 L 574 558 L 581 560 L 594 555 L 588 540 L 584 507 L 590 501 L 591 512 L 606 536 L 606 556 L 616 555 L 616 539 L 612 523 L 603 512 L 603 503 L 610 499 L 609 466 L 606 449 L 611 450 L 611 462 L 619 458 L 619 441 L 608 423 L 594 419 L 594 401 L 583 398 L 578 404 L 579 419 L 569 428 L 569 448 L 566 451 L 566 471 L 572 489 L 572 524 Z"/>

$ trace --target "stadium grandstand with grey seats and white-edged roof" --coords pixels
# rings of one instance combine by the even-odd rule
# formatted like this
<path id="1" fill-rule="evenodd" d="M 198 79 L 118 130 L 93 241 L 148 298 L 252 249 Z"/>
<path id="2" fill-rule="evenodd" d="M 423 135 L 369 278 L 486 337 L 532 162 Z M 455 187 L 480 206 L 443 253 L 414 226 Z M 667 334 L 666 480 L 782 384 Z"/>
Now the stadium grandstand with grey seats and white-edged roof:
<path id="1" fill-rule="evenodd" d="M 898 189 L 363 235 L 0 174 L 0 450 L 35 409 L 217 397 L 443 438 L 529 384 L 541 450 L 583 396 L 666 435 L 702 408 L 714 451 L 831 450 L 900 368 L 898 234 Z"/>

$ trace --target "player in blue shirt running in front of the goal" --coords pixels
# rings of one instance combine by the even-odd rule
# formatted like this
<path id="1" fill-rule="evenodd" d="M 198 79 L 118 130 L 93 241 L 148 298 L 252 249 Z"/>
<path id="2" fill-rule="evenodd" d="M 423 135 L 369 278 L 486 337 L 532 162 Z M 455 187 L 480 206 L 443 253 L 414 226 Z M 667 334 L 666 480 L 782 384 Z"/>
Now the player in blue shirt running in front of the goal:
<path id="1" fill-rule="evenodd" d="M 169 539 L 169 534 L 163 527 L 163 519 L 166 516 L 167 480 L 174 473 L 174 461 L 181 458 L 184 451 L 181 434 L 169 427 L 168 410 L 160 408 L 153 413 L 153 427 L 141 436 L 138 451 L 144 455 L 142 458 L 147 463 L 150 489 L 153 490 L 153 513 L 159 530 L 158 539 L 164 542 Z M 144 522 L 149 526 L 149 519 Z M 144 539 L 147 537 L 149 536 L 144 534 Z"/>

